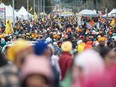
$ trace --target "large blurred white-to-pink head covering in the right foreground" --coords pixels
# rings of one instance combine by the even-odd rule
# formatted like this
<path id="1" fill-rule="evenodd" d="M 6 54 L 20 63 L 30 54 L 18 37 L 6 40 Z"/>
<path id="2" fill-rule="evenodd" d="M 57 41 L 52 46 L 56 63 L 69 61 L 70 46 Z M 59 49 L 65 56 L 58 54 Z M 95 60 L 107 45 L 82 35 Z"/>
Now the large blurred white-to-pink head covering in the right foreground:
<path id="1" fill-rule="evenodd" d="M 105 68 L 101 56 L 94 50 L 85 50 L 80 53 L 74 64 L 83 69 L 85 79 L 102 74 Z"/>

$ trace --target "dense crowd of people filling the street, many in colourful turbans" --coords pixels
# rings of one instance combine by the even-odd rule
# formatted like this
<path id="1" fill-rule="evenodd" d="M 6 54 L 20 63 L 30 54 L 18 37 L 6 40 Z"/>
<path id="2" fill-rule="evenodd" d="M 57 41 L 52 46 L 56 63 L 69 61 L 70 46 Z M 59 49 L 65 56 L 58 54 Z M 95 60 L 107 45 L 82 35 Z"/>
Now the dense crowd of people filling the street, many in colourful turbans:
<path id="1" fill-rule="evenodd" d="M 113 19 L 113 18 L 112 18 Z M 116 23 L 48 15 L 0 29 L 0 87 L 116 87 Z"/>

